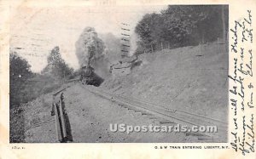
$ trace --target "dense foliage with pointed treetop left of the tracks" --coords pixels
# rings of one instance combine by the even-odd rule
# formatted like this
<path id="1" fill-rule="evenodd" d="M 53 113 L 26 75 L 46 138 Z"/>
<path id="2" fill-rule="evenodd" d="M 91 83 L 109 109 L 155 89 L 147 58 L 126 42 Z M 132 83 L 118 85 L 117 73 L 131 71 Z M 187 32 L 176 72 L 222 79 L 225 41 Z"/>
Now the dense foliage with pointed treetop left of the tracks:
<path id="1" fill-rule="evenodd" d="M 47 94 L 61 86 L 67 77 L 73 74 L 64 60 L 61 59 L 59 47 L 51 50 L 48 58 L 48 65 L 42 74 L 32 73 L 31 65 L 16 53 L 9 56 L 9 77 L 10 77 L 10 108 L 19 106 L 41 94 Z"/>

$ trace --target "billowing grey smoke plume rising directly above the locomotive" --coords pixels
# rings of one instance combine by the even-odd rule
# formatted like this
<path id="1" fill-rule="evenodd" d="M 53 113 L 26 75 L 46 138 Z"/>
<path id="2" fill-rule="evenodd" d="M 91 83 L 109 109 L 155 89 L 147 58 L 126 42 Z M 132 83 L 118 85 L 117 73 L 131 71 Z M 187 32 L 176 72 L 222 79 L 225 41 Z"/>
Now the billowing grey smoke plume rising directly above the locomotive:
<path id="1" fill-rule="evenodd" d="M 90 65 L 104 54 L 105 46 L 93 27 L 86 27 L 75 44 L 76 55 L 81 67 Z"/>

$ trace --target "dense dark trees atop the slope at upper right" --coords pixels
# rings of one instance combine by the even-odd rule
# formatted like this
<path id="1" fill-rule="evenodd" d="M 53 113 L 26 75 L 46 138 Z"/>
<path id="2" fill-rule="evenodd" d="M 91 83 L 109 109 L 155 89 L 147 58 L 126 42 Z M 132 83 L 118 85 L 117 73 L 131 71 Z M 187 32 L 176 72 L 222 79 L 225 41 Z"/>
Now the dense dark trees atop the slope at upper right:
<path id="1" fill-rule="evenodd" d="M 137 54 L 225 38 L 228 15 L 228 6 L 220 5 L 169 5 L 160 14 L 145 14 L 135 29 Z"/>

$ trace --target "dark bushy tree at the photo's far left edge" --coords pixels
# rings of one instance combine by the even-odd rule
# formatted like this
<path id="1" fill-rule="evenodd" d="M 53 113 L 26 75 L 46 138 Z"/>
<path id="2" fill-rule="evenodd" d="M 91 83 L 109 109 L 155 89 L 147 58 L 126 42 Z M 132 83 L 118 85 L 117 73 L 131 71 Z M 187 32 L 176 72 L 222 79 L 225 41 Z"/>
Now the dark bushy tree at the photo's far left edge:
<path id="1" fill-rule="evenodd" d="M 26 82 L 32 77 L 31 65 L 16 53 L 9 56 L 10 107 L 26 102 Z"/>

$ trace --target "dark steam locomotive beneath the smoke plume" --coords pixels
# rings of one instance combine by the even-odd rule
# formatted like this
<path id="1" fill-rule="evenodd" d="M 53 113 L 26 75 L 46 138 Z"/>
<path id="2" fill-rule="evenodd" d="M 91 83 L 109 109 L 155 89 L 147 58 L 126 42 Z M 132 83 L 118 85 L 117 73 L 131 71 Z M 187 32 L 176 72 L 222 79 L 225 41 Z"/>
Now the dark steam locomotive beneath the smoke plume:
<path id="1" fill-rule="evenodd" d="M 90 65 L 87 65 L 81 68 L 80 81 L 82 84 L 99 87 L 104 79 L 95 73 L 94 68 L 92 68 Z"/>

